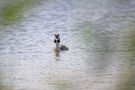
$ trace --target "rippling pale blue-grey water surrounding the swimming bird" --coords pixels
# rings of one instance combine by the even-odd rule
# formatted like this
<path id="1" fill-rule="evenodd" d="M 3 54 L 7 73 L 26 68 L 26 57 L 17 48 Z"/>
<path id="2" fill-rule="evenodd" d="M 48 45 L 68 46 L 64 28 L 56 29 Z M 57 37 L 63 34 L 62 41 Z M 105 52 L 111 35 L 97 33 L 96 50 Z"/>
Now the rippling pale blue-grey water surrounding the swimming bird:
<path id="1" fill-rule="evenodd" d="M 134 18 L 134 0 L 40 1 L 1 25 L 0 90 L 131 90 Z M 57 56 L 55 33 L 69 47 Z"/>

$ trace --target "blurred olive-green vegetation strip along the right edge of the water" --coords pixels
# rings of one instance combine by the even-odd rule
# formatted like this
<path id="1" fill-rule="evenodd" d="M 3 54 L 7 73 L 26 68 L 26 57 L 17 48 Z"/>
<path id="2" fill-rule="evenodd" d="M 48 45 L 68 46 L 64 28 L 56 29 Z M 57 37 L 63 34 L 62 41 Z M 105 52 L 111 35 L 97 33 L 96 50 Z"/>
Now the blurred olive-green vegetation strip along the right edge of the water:
<path id="1" fill-rule="evenodd" d="M 135 84 L 135 65 L 134 65 L 134 58 L 135 58 L 135 23 L 129 23 L 123 30 L 125 30 L 127 33 L 125 35 L 127 38 L 125 39 L 125 45 L 127 45 L 126 50 L 128 50 L 128 62 L 130 64 L 129 72 L 128 72 L 128 79 L 125 81 L 123 87 L 120 87 L 121 90 L 134 90 L 134 84 Z M 122 83 L 122 81 L 120 82 Z M 123 83 L 122 83 L 123 84 Z M 125 87 L 127 86 L 127 87 Z"/>

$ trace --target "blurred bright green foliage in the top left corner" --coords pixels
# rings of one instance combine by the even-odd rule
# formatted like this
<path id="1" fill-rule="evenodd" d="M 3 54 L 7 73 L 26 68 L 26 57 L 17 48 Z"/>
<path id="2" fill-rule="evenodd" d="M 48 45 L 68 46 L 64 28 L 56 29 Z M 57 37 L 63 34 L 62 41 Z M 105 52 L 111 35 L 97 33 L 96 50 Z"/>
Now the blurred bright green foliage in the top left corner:
<path id="1" fill-rule="evenodd" d="M 32 2 L 32 0 L 19 0 L 7 4 L 1 12 L 2 24 L 9 25 L 18 21 Z"/>

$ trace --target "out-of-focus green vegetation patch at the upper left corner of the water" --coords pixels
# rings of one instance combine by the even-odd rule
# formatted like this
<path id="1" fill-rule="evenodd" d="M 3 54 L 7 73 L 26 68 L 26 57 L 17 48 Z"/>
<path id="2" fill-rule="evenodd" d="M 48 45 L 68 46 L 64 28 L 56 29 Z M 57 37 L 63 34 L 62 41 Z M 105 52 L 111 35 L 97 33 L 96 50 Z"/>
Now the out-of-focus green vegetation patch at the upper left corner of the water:
<path id="1" fill-rule="evenodd" d="M 2 25 L 11 25 L 24 17 L 24 13 L 35 6 L 36 0 L 12 0 L 4 1 L 6 3 L 1 9 L 1 23 Z"/>

